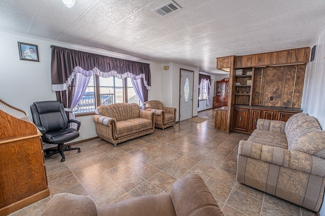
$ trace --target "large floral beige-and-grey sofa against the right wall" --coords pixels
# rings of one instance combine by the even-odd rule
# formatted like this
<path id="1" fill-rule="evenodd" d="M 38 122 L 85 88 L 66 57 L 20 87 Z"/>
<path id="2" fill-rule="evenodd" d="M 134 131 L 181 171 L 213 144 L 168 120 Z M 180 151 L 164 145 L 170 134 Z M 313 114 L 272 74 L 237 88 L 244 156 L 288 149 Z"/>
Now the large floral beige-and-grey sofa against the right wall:
<path id="1" fill-rule="evenodd" d="M 325 131 L 303 113 L 287 122 L 259 119 L 238 147 L 237 180 L 313 211 L 325 186 Z"/>

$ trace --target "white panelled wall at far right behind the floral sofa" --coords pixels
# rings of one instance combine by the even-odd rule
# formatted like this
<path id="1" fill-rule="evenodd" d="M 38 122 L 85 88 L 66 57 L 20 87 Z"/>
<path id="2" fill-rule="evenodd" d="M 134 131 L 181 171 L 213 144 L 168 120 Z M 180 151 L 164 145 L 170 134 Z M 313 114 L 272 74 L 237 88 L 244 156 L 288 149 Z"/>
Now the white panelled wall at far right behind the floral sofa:
<path id="1" fill-rule="evenodd" d="M 325 23 L 310 46 L 316 45 L 315 59 L 307 64 L 302 109 L 304 113 L 317 118 L 322 130 L 325 127 Z M 320 215 L 325 215 L 325 202 L 320 207 Z"/>

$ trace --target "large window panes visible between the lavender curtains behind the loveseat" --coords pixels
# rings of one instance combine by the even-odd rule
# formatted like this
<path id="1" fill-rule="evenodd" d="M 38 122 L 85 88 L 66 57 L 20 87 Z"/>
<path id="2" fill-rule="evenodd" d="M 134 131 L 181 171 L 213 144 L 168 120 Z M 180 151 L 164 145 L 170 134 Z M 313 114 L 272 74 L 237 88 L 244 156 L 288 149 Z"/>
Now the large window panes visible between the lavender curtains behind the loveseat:
<path id="1" fill-rule="evenodd" d="M 123 80 L 116 77 L 102 78 L 94 75 L 79 103 L 74 107 L 74 114 L 95 112 L 100 105 L 113 103 L 137 103 L 142 105 L 132 85 L 131 78 Z"/>

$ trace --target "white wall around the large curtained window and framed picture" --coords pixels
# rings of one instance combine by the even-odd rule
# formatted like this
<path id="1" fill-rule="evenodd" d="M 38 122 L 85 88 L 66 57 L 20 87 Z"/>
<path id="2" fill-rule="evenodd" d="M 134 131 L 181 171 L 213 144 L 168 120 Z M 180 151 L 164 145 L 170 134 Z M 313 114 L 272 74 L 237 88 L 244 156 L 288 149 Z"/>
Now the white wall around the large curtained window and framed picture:
<path id="1" fill-rule="evenodd" d="M 1 30 L 0 38 L 3 41 L 0 56 L 0 65 L 2 66 L 0 70 L 0 99 L 23 110 L 30 118 L 29 106 L 34 101 L 56 100 L 56 94 L 51 89 L 51 45 L 150 63 L 151 90 L 148 92 L 148 99 L 162 99 L 161 89 L 163 84 L 161 83 L 160 63 L 149 62 L 100 49 L 64 44 Z M 20 60 L 17 42 L 38 45 L 40 62 Z M 92 115 L 79 116 L 77 119 L 82 123 L 80 137 L 74 141 L 97 136 Z"/>

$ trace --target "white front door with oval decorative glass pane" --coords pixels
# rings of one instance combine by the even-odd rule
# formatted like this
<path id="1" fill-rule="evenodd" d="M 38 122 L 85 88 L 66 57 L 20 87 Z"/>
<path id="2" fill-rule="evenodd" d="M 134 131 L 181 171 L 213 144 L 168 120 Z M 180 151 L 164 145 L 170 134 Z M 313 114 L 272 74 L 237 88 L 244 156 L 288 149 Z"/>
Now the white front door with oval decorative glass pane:
<path id="1" fill-rule="evenodd" d="M 181 69 L 179 121 L 192 118 L 194 71 Z"/>

